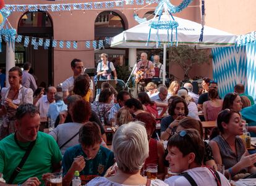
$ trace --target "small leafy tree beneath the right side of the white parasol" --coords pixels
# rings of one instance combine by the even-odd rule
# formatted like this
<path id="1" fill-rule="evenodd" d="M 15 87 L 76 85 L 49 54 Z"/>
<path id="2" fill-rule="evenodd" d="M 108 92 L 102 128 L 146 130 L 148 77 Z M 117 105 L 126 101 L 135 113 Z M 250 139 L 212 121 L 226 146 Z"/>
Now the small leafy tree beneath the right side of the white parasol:
<path id="1" fill-rule="evenodd" d="M 176 63 L 184 70 L 184 78 L 189 77 L 189 71 L 194 65 L 209 63 L 212 56 L 208 49 L 195 49 L 187 45 L 169 48 L 169 62 Z"/>

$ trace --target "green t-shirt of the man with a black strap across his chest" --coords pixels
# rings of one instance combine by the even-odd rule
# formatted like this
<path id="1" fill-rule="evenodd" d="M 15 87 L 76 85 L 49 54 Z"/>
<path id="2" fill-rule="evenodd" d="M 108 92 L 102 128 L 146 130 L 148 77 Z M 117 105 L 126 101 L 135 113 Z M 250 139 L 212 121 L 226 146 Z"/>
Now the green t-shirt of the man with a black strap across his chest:
<path id="1" fill-rule="evenodd" d="M 28 147 L 29 144 L 19 142 L 21 147 Z M 14 134 L 0 141 L 0 172 L 2 172 L 7 183 L 24 154 L 25 150 L 16 144 Z M 52 164 L 59 163 L 61 159 L 61 152 L 53 137 L 49 134 L 38 132 L 36 143 L 25 161 L 22 171 L 15 177 L 13 184 L 22 184 L 30 177 L 38 177 L 42 182 L 42 175 L 52 172 Z"/>

